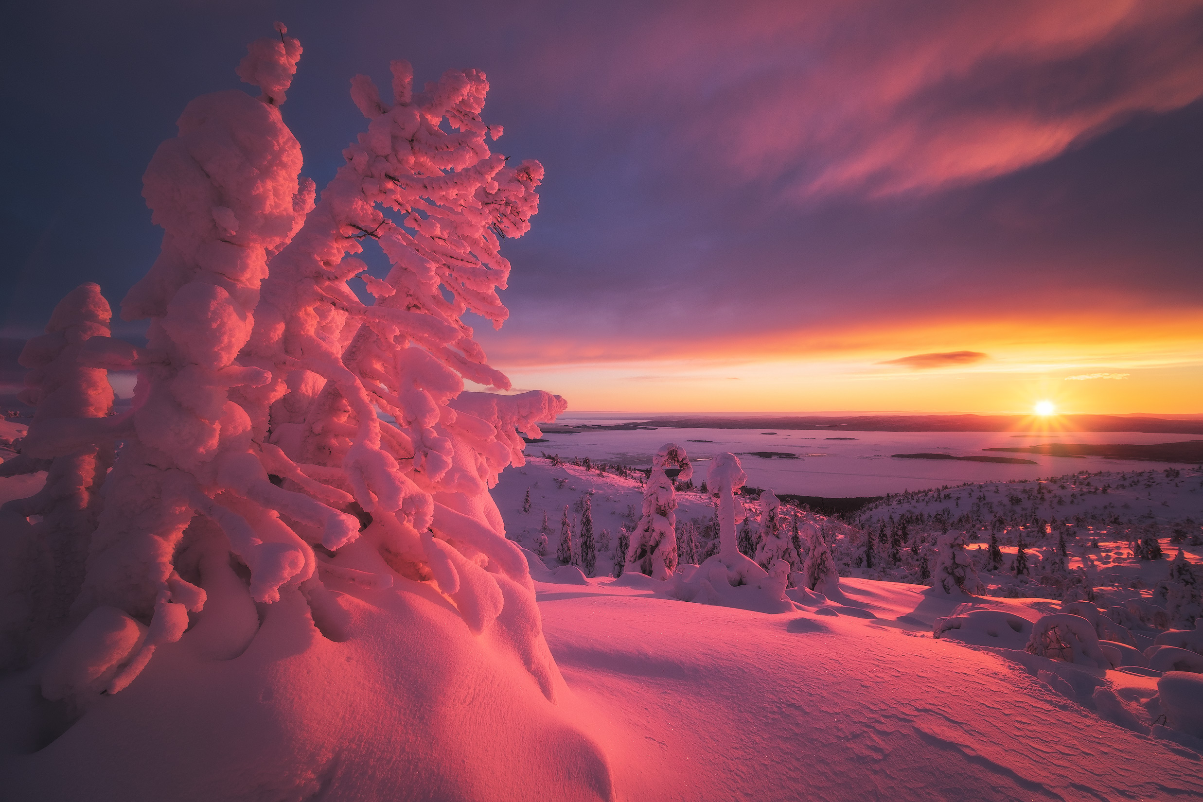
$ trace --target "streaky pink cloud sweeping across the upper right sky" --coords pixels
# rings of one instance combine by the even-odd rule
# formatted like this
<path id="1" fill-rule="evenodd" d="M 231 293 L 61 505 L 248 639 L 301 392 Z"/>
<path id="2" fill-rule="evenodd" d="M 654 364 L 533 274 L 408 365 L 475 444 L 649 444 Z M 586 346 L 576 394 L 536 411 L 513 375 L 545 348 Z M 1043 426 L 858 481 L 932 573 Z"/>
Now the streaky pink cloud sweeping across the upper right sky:
<path id="1" fill-rule="evenodd" d="M 1201 23 L 1196 0 L 672 8 L 606 41 L 633 58 L 592 79 L 663 117 L 700 170 L 885 196 L 1002 176 L 1199 99 Z"/>

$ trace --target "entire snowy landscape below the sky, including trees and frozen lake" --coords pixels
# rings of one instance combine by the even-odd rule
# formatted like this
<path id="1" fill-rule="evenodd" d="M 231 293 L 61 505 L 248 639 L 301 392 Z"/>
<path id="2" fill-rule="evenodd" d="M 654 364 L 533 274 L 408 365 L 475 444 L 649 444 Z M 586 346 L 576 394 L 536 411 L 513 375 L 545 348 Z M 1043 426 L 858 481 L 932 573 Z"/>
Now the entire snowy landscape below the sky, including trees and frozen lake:
<path id="1" fill-rule="evenodd" d="M 0 798 L 1203 798 L 1203 464 L 1023 451 L 1198 436 L 574 428 L 474 329 L 545 176 L 486 75 L 356 75 L 318 188 L 302 52 L 20 351 Z"/>

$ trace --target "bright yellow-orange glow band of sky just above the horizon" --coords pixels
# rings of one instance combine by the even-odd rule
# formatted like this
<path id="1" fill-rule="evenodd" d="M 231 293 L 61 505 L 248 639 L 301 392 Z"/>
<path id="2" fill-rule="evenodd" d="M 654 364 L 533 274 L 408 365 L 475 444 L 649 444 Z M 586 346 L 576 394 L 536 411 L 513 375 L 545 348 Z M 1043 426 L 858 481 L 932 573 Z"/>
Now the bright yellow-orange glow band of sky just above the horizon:
<path id="1" fill-rule="evenodd" d="M 1074 414 L 1203 412 L 1203 315 L 1126 323 L 1081 313 L 1051 322 L 849 320 L 725 340 L 620 334 L 604 345 L 576 343 L 564 327 L 550 347 L 503 332 L 486 350 L 515 387 L 558 393 L 576 411 L 1033 415 L 1049 402 L 1055 416 L 1033 415 L 1041 426 Z M 929 358 L 941 356 L 947 363 Z"/>

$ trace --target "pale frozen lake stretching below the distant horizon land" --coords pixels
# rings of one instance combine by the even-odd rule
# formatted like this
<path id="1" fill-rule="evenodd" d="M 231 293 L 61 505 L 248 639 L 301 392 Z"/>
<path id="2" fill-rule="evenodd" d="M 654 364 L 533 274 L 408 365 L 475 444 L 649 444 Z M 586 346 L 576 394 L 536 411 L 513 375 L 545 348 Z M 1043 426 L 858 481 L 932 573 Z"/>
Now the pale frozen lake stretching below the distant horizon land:
<path id="1" fill-rule="evenodd" d="M 568 421 L 577 423 L 579 421 Z M 600 421 L 599 421 L 600 422 Z M 846 436 L 854 440 L 836 440 Z M 1039 479 L 1073 471 L 1150 470 L 1183 468 L 1137 459 L 1102 457 L 1045 457 L 1043 455 L 989 452 L 998 457 L 1032 459 L 1035 465 L 1000 463 L 895 459 L 895 453 L 949 453 L 958 457 L 985 455 L 982 448 L 1032 446 L 1044 442 L 1138 444 L 1180 442 L 1199 439 L 1189 434 L 1139 432 L 1074 432 L 1015 436 L 1011 432 L 831 432 L 830 429 L 675 429 L 638 432 L 585 430 L 577 434 L 544 434 L 547 442 L 529 444 L 526 453 L 558 453 L 592 461 L 647 467 L 665 442 L 686 447 L 694 462 L 694 482 L 706 477 L 709 458 L 730 451 L 739 456 L 748 485 L 799 495 L 882 495 L 961 482 Z M 706 440 L 709 442 L 691 442 Z M 751 451 L 782 451 L 800 458 L 753 457 Z M 741 453 L 742 452 L 742 453 Z"/>

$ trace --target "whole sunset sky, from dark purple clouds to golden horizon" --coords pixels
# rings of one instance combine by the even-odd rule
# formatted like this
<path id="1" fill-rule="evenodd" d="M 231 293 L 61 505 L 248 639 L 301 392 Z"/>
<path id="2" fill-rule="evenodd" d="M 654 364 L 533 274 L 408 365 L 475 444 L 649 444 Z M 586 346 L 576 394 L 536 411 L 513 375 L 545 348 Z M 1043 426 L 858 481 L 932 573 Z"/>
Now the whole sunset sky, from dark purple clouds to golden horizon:
<path id="1" fill-rule="evenodd" d="M 275 19 L 319 188 L 365 126 L 351 76 L 487 73 L 494 152 L 546 168 L 510 320 L 476 328 L 517 388 L 1203 412 L 1203 0 L 24 4 L 0 34 L 0 391 L 63 295 L 115 308 L 144 274 L 147 162 Z"/>

